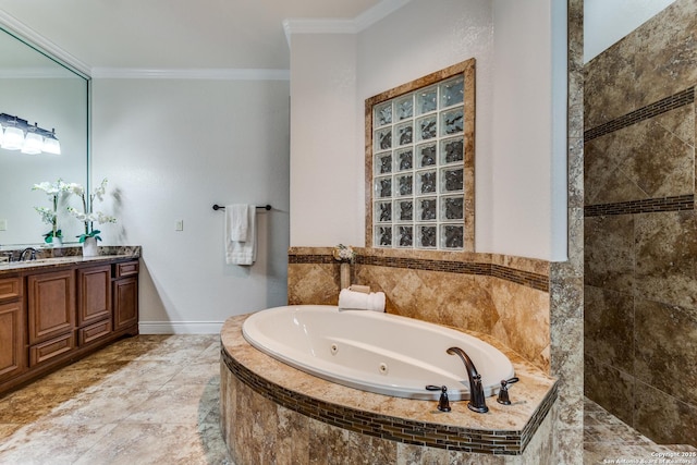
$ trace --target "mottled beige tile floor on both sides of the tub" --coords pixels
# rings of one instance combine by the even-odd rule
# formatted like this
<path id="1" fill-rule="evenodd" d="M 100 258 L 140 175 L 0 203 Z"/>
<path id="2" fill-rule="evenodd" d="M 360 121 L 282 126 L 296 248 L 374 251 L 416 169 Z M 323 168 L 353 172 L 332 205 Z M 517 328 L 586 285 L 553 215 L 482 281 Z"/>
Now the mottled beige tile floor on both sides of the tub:
<path id="1" fill-rule="evenodd" d="M 233 465 L 220 433 L 219 335 L 139 335 L 0 396 L 0 464 Z M 694 464 L 591 401 L 584 464 Z M 634 462 L 636 461 L 636 462 Z"/>

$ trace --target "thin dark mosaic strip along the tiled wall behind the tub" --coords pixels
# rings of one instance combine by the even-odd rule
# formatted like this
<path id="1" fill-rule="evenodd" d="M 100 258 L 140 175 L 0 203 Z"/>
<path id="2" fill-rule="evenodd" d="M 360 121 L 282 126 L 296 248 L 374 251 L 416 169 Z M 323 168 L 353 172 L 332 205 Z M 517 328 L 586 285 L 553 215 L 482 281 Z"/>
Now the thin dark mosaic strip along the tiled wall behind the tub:
<path id="1" fill-rule="evenodd" d="M 288 262 L 289 265 L 331 265 L 337 261 L 331 255 L 289 254 Z M 527 287 L 533 287 L 537 291 L 549 292 L 549 278 L 547 276 L 494 264 L 365 255 L 358 255 L 356 257 L 356 264 L 374 267 L 405 268 L 420 271 L 442 271 L 449 273 L 487 276 L 511 281 Z"/>

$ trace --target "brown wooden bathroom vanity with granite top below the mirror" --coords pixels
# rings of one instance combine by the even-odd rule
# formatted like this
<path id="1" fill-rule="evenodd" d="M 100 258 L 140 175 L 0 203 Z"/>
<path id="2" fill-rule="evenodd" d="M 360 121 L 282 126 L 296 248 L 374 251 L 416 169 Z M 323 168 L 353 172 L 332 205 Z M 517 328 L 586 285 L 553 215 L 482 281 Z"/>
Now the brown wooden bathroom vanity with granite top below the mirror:
<path id="1" fill-rule="evenodd" d="M 136 335 L 138 256 L 0 264 L 0 394 Z"/>

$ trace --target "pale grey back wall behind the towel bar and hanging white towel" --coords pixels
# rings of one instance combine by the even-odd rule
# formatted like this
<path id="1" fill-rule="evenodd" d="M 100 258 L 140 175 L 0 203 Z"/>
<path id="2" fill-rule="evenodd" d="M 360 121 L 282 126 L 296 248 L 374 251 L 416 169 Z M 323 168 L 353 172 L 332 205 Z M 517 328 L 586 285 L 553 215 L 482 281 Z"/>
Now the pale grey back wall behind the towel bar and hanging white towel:
<path id="1" fill-rule="evenodd" d="M 285 304 L 288 96 L 288 81 L 94 81 L 91 179 L 118 194 L 97 206 L 119 218 L 102 237 L 143 246 L 142 331 L 215 332 Z M 253 267 L 225 265 L 216 203 L 273 206 Z"/>

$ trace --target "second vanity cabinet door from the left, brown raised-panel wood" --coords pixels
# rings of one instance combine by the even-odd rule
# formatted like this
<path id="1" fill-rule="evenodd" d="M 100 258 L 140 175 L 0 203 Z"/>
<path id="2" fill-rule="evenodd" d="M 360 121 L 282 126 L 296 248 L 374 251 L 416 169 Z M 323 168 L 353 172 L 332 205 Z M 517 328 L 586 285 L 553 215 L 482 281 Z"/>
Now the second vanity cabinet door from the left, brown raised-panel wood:
<path id="1" fill-rule="evenodd" d="M 73 271 L 27 277 L 29 344 L 48 341 L 75 328 Z"/>

